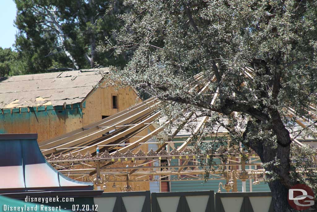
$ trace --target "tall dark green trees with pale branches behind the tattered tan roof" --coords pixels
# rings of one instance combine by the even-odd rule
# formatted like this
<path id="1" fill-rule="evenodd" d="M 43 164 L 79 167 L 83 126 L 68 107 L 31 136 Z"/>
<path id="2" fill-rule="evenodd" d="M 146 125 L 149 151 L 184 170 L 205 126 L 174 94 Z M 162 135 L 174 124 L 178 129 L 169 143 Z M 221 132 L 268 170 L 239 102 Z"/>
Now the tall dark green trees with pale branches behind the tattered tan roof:
<path id="1" fill-rule="evenodd" d="M 95 51 L 105 37 L 113 39 L 112 31 L 121 22 L 116 14 L 126 9 L 122 1 L 101 0 L 15 0 L 17 7 L 15 47 L 24 61 L 25 73 L 56 69 L 83 69 L 124 65 L 124 57 L 111 51 Z"/>

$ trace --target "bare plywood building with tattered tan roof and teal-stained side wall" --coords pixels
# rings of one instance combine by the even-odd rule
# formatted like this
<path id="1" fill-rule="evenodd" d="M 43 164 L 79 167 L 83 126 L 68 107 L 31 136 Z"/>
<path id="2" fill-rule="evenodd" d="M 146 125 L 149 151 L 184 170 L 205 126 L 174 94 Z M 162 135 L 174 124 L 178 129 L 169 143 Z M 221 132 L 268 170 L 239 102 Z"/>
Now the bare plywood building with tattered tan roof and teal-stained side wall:
<path id="1" fill-rule="evenodd" d="M 132 88 L 101 88 L 106 83 L 103 76 L 107 74 L 91 69 L 1 79 L 0 87 L 8 89 L 0 91 L 0 106 L 5 106 L 0 111 L 0 133 L 38 133 L 38 142 L 44 145 L 65 133 L 84 131 L 84 126 L 102 116 L 111 116 L 138 103 Z M 46 96 L 39 94 L 42 91 Z M 3 95 L 14 98 L 7 100 Z M 112 95 L 118 96 L 117 109 L 112 108 Z M 47 143 L 42 143 L 44 140 Z"/>

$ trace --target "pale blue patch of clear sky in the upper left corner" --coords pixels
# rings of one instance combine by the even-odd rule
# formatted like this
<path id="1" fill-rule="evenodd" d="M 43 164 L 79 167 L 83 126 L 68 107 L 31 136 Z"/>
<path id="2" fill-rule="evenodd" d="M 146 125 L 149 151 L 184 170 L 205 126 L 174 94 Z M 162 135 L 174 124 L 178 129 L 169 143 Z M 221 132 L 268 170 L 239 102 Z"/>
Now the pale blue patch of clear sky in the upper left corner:
<path id="1" fill-rule="evenodd" d="M 13 48 L 16 28 L 13 21 L 16 17 L 16 4 L 13 0 L 0 0 L 0 47 Z"/>

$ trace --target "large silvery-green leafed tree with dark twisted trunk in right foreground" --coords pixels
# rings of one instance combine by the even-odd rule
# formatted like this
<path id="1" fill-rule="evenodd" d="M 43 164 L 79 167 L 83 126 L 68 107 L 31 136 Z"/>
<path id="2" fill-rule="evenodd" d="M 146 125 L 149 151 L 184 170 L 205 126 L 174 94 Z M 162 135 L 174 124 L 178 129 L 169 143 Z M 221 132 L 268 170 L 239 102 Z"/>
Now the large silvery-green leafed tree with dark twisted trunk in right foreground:
<path id="1" fill-rule="evenodd" d="M 184 109 L 209 116 L 210 123 L 231 117 L 227 127 L 232 129 L 232 142 L 253 149 L 265 165 L 275 211 L 292 210 L 288 189 L 297 183 L 316 193 L 315 172 L 298 162 L 311 150 L 293 147 L 296 135 L 307 135 L 315 127 L 316 111 L 311 111 L 317 86 L 316 1 L 126 0 L 125 4 L 131 10 L 118 17 L 125 27 L 113 32 L 116 43 L 106 39 L 99 46 L 99 51 L 131 55 L 125 68 L 112 68 L 113 79 L 171 104 L 162 107 L 171 119 Z M 199 80 L 193 77 L 197 73 Z M 202 82 L 208 92 L 193 90 Z M 210 104 L 216 91 L 217 101 Z M 296 119 L 302 117 L 307 127 L 293 132 Z M 245 130 L 235 130 L 241 119 L 248 120 Z M 294 149 L 296 163 L 291 162 Z"/>

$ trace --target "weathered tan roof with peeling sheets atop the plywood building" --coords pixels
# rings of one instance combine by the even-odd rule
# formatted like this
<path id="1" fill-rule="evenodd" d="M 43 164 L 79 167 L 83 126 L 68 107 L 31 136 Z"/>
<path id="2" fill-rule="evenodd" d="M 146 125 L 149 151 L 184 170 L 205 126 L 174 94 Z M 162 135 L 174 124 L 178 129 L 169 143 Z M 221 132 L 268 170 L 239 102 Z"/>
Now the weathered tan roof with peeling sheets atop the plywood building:
<path id="1" fill-rule="evenodd" d="M 94 69 L 0 78 L 0 109 L 80 103 L 101 79 Z"/>

